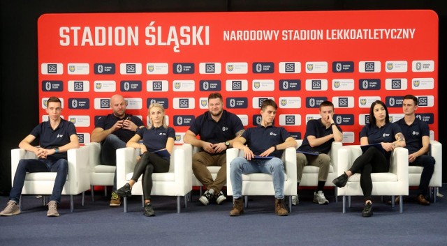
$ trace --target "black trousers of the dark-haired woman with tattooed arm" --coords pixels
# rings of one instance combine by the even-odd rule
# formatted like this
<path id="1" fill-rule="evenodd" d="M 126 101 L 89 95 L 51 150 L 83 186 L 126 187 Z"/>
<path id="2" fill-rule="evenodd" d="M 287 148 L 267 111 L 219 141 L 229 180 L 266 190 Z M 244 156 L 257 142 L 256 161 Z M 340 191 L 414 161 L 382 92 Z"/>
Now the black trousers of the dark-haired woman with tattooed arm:
<path id="1" fill-rule="evenodd" d="M 357 157 L 349 171 L 360 174 L 360 187 L 363 199 L 371 200 L 372 173 L 386 173 L 390 171 L 390 160 L 377 148 L 368 148 L 365 153 Z"/>

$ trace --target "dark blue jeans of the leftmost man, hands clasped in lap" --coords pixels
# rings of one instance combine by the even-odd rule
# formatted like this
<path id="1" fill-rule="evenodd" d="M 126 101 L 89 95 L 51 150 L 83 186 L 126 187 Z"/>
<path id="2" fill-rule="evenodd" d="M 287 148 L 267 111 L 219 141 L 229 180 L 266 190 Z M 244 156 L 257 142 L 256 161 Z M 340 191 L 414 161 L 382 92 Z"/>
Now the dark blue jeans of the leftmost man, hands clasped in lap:
<path id="1" fill-rule="evenodd" d="M 53 191 L 50 201 L 61 202 L 62 189 L 68 175 L 68 161 L 65 159 L 23 159 L 20 160 L 17 171 L 15 171 L 13 188 L 9 194 L 9 199 L 18 203 L 22 194 L 25 176 L 27 173 L 36 172 L 57 172 L 54 180 Z"/>

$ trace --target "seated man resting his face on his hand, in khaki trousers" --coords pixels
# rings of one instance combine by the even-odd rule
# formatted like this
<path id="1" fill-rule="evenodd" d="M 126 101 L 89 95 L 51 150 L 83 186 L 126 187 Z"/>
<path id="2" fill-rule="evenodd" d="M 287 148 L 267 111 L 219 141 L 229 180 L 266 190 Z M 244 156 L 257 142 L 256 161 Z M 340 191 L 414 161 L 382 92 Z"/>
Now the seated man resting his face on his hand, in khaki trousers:
<path id="1" fill-rule="evenodd" d="M 320 116 L 318 120 L 307 121 L 306 134 L 302 144 L 296 153 L 296 172 L 298 185 L 302 178 L 302 169 L 307 165 L 316 166 L 318 170 L 318 184 L 314 192 L 314 203 L 328 204 L 323 187 L 329 174 L 330 156 L 328 155 L 333 141 L 342 141 L 342 129 L 334 122 L 334 105 L 324 101 L 320 104 Z M 311 153 L 317 153 L 316 155 Z M 319 153 L 319 154 L 318 154 Z M 298 194 L 292 197 L 292 204 L 299 202 Z"/>

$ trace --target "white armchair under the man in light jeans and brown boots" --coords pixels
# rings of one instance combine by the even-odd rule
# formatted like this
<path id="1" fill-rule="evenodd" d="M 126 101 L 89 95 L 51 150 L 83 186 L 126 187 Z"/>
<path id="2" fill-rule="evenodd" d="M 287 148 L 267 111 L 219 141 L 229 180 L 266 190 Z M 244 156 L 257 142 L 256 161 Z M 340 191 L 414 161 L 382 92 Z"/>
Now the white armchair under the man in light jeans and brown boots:
<path id="1" fill-rule="evenodd" d="M 228 148 L 226 151 L 226 180 L 227 194 L 233 196 L 233 187 L 230 182 L 230 163 L 235 157 L 243 156 L 243 151 L 237 148 Z M 291 197 L 296 194 L 296 150 L 293 147 L 286 148 L 281 160 L 284 162 L 286 176 L 284 180 L 284 197 L 288 197 L 288 210 L 292 212 Z M 274 195 L 273 180 L 270 174 L 242 174 L 242 196 L 245 207 L 248 206 L 248 196 Z"/>

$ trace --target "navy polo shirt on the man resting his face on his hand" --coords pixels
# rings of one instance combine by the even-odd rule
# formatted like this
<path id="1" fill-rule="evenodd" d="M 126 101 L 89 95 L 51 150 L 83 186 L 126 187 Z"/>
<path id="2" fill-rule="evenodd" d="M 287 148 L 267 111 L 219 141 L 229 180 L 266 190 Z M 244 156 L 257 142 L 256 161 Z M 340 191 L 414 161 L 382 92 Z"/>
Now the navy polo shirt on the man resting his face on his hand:
<path id="1" fill-rule="evenodd" d="M 340 128 L 338 125 L 336 125 L 338 130 L 342 132 L 342 128 Z M 320 137 L 325 137 L 330 134 L 332 134 L 332 125 L 329 128 L 326 128 L 325 125 L 321 122 L 321 118 L 318 120 L 310 120 L 307 121 L 306 125 L 306 134 L 305 137 L 302 139 L 302 144 L 298 148 L 300 151 L 319 151 L 321 153 L 327 154 L 330 151 L 330 148 L 332 146 L 332 142 L 334 139 L 329 139 L 324 144 L 321 144 L 320 146 L 315 146 L 312 148 L 309 144 L 309 140 L 307 140 L 307 136 L 315 136 L 317 139 Z"/>

